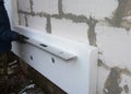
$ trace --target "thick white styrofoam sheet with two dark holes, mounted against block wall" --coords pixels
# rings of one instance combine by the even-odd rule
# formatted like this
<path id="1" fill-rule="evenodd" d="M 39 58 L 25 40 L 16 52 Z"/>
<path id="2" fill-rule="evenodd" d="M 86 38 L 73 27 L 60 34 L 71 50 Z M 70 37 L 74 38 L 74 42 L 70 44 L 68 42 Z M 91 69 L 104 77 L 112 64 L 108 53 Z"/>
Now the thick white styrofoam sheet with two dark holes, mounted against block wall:
<path id="1" fill-rule="evenodd" d="M 14 52 L 35 70 L 68 94 L 96 94 L 97 49 L 95 47 L 24 26 L 16 26 L 15 31 L 29 37 L 29 43 L 14 43 Z M 75 55 L 76 58 L 63 60 L 33 45 L 34 40 L 62 49 Z"/>

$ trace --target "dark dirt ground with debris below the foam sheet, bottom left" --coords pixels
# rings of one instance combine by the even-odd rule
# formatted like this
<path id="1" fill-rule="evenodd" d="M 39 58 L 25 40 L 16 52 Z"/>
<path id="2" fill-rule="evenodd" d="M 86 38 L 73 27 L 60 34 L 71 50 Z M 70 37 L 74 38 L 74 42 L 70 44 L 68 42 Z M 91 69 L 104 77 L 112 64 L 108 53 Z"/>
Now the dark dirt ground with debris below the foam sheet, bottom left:
<path id="1" fill-rule="evenodd" d="M 22 70 L 17 61 L 9 63 L 8 67 L 8 94 L 45 94 Z M 2 93 L 0 93 L 2 94 Z"/>

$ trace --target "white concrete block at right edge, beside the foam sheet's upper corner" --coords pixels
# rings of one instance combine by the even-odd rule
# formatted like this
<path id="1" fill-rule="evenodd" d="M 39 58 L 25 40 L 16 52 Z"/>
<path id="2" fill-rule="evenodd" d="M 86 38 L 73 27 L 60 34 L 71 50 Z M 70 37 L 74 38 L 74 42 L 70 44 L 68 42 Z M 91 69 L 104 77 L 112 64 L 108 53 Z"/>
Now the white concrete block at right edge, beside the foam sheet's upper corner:
<path id="1" fill-rule="evenodd" d="M 97 45 L 100 56 L 107 64 L 111 67 L 119 66 L 120 68 L 131 69 L 131 32 L 124 28 L 97 26 Z M 123 66 L 124 63 L 124 66 Z"/>

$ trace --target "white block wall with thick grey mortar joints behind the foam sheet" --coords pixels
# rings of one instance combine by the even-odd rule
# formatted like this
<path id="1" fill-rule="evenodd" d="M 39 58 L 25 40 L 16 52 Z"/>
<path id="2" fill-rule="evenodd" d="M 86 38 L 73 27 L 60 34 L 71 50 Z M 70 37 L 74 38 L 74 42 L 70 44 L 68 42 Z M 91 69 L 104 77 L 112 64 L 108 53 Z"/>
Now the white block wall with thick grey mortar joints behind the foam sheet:
<path id="1" fill-rule="evenodd" d="M 131 94 L 131 0 L 17 0 L 19 24 L 99 50 L 97 94 Z"/>

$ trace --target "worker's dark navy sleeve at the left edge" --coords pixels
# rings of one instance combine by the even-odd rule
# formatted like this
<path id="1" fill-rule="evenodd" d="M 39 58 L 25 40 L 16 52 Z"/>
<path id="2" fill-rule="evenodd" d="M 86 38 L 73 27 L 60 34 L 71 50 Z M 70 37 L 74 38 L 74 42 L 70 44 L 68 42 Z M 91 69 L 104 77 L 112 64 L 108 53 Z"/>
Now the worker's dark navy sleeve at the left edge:
<path id="1" fill-rule="evenodd" d="M 0 40 L 12 42 L 17 38 L 17 33 L 11 31 L 10 21 L 4 5 L 0 5 Z"/>

